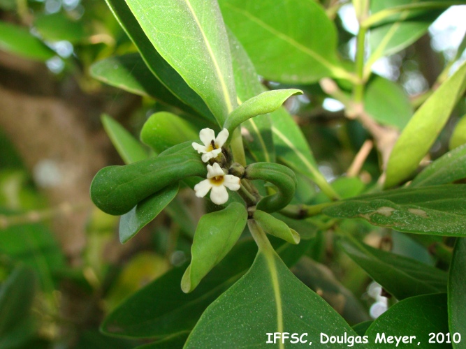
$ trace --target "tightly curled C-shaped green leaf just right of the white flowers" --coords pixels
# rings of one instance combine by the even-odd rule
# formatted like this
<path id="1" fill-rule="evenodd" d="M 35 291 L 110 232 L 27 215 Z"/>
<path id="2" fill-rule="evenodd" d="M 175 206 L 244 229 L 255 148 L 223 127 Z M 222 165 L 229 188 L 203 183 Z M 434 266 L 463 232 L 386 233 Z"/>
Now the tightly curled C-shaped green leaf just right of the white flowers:
<path id="1" fill-rule="evenodd" d="M 245 169 L 246 179 L 270 181 L 277 188 L 277 193 L 265 196 L 256 205 L 265 212 L 275 212 L 284 208 L 293 199 L 298 182 L 292 170 L 278 163 L 252 163 Z"/>

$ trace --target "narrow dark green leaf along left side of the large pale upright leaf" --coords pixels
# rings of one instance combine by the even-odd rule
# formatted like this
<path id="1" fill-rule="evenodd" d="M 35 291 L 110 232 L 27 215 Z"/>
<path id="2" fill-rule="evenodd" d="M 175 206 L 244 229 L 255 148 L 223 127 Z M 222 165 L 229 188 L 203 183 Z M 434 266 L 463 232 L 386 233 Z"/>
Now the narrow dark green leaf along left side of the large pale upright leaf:
<path id="1" fill-rule="evenodd" d="M 159 52 L 156 51 L 143 29 L 141 29 L 133 13 L 131 13 L 126 1 L 106 0 L 106 2 L 119 24 L 123 27 L 124 31 L 126 31 L 126 34 L 128 34 L 129 38 L 131 38 L 136 47 L 138 47 L 147 68 L 150 69 L 154 76 L 159 79 L 168 90 L 172 91 L 174 96 L 180 98 L 180 101 L 191 106 L 206 119 L 214 121 L 215 119 L 212 112 L 210 112 L 202 98 L 184 82 L 180 74 L 178 74 L 177 71 L 161 57 Z"/>

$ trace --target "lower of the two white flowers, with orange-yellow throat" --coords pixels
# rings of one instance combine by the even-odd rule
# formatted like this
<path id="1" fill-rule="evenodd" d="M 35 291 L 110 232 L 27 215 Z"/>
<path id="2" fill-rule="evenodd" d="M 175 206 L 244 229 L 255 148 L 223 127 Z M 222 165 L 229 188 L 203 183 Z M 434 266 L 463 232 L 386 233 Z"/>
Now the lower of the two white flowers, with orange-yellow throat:
<path id="1" fill-rule="evenodd" d="M 210 200 L 214 204 L 221 205 L 228 200 L 226 188 L 237 191 L 240 186 L 241 183 L 238 177 L 233 176 L 233 174 L 224 174 L 219 164 L 214 163 L 213 166 L 207 165 L 207 179 L 196 184 L 194 190 L 198 198 L 203 198 L 212 189 Z"/>

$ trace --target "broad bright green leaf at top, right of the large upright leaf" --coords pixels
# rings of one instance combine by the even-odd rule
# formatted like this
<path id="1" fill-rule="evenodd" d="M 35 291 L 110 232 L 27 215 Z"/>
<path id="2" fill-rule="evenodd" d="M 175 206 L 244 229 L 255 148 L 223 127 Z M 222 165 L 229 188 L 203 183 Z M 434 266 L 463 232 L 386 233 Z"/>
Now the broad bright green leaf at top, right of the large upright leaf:
<path id="1" fill-rule="evenodd" d="M 265 78 L 310 83 L 347 77 L 337 61 L 335 25 L 315 1 L 220 0 L 219 5 L 226 24 Z"/>

